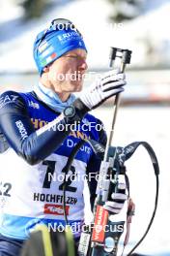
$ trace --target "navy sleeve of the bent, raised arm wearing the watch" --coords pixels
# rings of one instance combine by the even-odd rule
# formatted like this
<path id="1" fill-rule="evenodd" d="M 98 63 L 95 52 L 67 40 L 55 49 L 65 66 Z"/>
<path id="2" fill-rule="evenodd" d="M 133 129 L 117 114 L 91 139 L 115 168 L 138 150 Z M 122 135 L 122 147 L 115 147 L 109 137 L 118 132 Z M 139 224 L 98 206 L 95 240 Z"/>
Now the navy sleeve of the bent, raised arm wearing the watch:
<path id="1" fill-rule="evenodd" d="M 14 91 L 7 91 L 0 97 L 0 130 L 19 156 L 30 165 L 38 164 L 57 149 L 70 134 L 70 129 L 60 131 L 58 125 L 72 124 L 88 111 L 84 106 L 82 111 L 80 110 L 82 103 L 78 100 L 74 107 L 73 117 L 66 118 L 61 114 L 60 119 L 53 121 L 55 129 L 45 125 L 35 131 L 24 99 Z M 52 122 L 50 124 L 52 125 Z"/>

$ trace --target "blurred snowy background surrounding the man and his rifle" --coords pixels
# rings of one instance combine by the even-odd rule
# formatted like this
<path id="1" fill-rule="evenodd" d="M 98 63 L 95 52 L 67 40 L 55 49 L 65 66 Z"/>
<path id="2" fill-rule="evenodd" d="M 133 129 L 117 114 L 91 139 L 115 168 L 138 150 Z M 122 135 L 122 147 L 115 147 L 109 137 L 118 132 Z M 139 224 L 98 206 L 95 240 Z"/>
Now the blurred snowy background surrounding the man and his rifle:
<path id="1" fill-rule="evenodd" d="M 137 249 L 153 256 L 170 255 L 169 14 L 169 0 L 0 1 L 0 93 L 7 89 L 28 91 L 38 82 L 33 42 L 37 33 L 56 17 L 71 19 L 83 34 L 89 65 L 85 86 L 109 69 L 110 47 L 132 50 L 131 64 L 126 71 L 128 85 L 122 95 L 113 144 L 147 141 L 156 151 L 160 165 L 156 220 Z M 113 116 L 112 106 L 109 101 L 94 111 L 107 131 Z M 156 193 L 152 165 L 142 148 L 129 160 L 128 175 L 131 196 L 136 203 L 128 246 L 131 248 L 149 223 Z"/>

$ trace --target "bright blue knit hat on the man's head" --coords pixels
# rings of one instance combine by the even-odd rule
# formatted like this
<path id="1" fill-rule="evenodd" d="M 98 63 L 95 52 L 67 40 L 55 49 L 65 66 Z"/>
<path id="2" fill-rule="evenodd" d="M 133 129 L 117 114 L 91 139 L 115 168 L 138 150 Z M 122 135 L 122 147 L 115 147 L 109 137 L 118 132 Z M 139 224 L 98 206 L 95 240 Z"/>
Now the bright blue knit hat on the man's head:
<path id="1" fill-rule="evenodd" d="M 44 67 L 75 48 L 87 51 L 81 34 L 72 22 L 65 18 L 52 20 L 49 28 L 40 32 L 34 42 L 34 59 L 40 75 Z"/>

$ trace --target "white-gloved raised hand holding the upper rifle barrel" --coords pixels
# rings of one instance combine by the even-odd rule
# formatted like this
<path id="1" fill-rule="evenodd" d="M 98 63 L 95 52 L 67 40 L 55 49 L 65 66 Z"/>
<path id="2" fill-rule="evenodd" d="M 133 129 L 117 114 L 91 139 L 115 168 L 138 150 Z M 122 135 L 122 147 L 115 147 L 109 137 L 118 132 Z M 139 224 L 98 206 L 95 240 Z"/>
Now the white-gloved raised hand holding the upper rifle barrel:
<path id="1" fill-rule="evenodd" d="M 106 99 L 124 91 L 123 86 L 127 83 L 125 78 L 125 74 L 118 70 L 110 71 L 83 90 L 79 99 L 89 110 L 93 110 Z"/>

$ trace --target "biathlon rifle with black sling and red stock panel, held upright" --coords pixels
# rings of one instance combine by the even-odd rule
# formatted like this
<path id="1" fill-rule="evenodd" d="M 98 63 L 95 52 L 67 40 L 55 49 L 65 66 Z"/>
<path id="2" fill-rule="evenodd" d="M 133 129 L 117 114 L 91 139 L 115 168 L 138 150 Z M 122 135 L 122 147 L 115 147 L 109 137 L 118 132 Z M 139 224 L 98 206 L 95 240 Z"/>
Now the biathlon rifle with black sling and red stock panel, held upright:
<path id="1" fill-rule="evenodd" d="M 121 58 L 121 71 L 124 72 L 126 65 L 130 63 L 131 51 L 128 49 L 111 48 L 110 53 L 110 67 L 113 65 L 116 57 Z M 128 144 L 126 147 L 114 147 L 111 145 L 114 126 L 116 122 L 117 112 L 120 105 L 120 94 L 116 95 L 114 102 L 114 114 L 112 120 L 112 126 L 107 140 L 106 147 L 102 147 L 100 144 L 93 142 L 92 140 L 88 143 L 91 144 L 96 153 L 103 153 L 103 161 L 100 165 L 99 170 L 99 181 L 97 186 L 97 198 L 94 206 L 94 221 L 91 225 L 86 226 L 80 237 L 78 255 L 79 256 L 117 256 L 118 244 L 121 235 L 124 233 L 124 221 L 114 221 L 114 215 L 110 214 L 103 205 L 106 201 L 110 200 L 113 192 L 118 192 L 119 176 L 125 176 L 127 187 L 128 187 L 128 212 L 127 212 L 127 235 L 124 241 L 124 249 L 128 243 L 129 237 L 129 223 L 131 217 L 134 214 L 134 204 L 129 197 L 129 181 L 126 174 L 125 162 L 134 153 L 136 148 L 142 144 L 151 156 L 153 166 L 156 174 L 156 206 L 158 199 L 158 174 L 159 168 L 156 159 L 156 154 L 150 144 L 145 142 L 138 142 Z M 156 214 L 156 206 L 148 226 L 147 232 L 144 234 L 141 240 L 134 246 L 134 248 L 128 253 L 131 255 L 132 251 L 139 245 L 139 243 L 146 237 L 152 222 Z M 107 227 L 107 231 L 106 231 Z M 124 252 L 123 249 L 123 252 Z M 123 253 L 122 253 L 123 255 Z"/>

